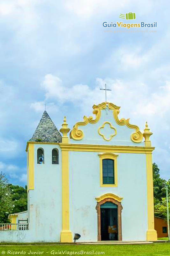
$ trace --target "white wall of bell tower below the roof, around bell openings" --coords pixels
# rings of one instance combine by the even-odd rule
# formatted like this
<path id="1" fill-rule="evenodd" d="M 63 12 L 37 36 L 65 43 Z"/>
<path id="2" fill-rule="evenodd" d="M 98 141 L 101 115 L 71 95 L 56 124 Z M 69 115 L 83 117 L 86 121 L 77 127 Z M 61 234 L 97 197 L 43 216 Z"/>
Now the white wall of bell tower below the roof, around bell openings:
<path id="1" fill-rule="evenodd" d="M 37 149 L 44 149 L 44 164 L 37 164 Z M 52 149 L 59 164 L 52 164 Z M 29 192 L 30 230 L 35 241 L 60 241 L 62 225 L 61 150 L 58 145 L 34 145 L 34 190 Z"/>

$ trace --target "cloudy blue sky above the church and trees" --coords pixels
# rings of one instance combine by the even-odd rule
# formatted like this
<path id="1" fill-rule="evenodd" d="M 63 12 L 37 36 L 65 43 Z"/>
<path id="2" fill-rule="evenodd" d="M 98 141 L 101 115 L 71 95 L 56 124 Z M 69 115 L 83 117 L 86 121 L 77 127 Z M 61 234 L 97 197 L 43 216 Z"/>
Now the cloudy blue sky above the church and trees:
<path id="1" fill-rule="evenodd" d="M 72 128 L 105 101 L 105 83 L 119 118 L 142 132 L 148 122 L 153 162 L 170 178 L 169 7 L 155 0 L 0 0 L 0 171 L 11 183 L 26 185 L 26 142 L 45 103 L 58 130 L 63 116 Z M 129 12 L 136 20 L 119 18 Z"/>

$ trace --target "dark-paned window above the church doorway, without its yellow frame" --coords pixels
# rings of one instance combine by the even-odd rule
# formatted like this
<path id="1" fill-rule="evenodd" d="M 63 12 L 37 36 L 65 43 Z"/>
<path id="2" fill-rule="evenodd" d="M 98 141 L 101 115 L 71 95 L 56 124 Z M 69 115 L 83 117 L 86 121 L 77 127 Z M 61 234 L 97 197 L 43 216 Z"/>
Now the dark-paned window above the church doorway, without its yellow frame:
<path id="1" fill-rule="evenodd" d="M 103 184 L 114 184 L 114 160 L 103 159 L 102 160 L 102 171 L 103 171 Z"/>

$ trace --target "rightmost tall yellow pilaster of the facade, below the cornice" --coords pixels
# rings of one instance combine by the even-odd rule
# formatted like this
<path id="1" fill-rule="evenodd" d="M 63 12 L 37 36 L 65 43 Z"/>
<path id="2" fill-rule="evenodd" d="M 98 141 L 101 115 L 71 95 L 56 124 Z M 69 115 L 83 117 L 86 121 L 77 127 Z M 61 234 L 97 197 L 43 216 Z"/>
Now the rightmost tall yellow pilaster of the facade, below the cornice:
<path id="1" fill-rule="evenodd" d="M 153 174 L 152 174 L 152 155 L 151 154 L 146 154 L 146 176 L 147 176 L 147 210 L 148 210 L 148 230 L 146 232 L 146 240 L 157 241 L 157 232 L 154 229 Z"/>

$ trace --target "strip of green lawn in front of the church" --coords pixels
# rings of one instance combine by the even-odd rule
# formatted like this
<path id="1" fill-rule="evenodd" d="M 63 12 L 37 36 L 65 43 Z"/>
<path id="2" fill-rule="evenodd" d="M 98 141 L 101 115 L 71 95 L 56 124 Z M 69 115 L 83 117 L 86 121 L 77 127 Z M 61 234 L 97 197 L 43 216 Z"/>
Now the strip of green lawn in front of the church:
<path id="1" fill-rule="evenodd" d="M 101 254 L 101 252 L 104 253 Z M 0 255 L 167 256 L 170 255 L 170 243 L 141 245 L 1 245 Z"/>

